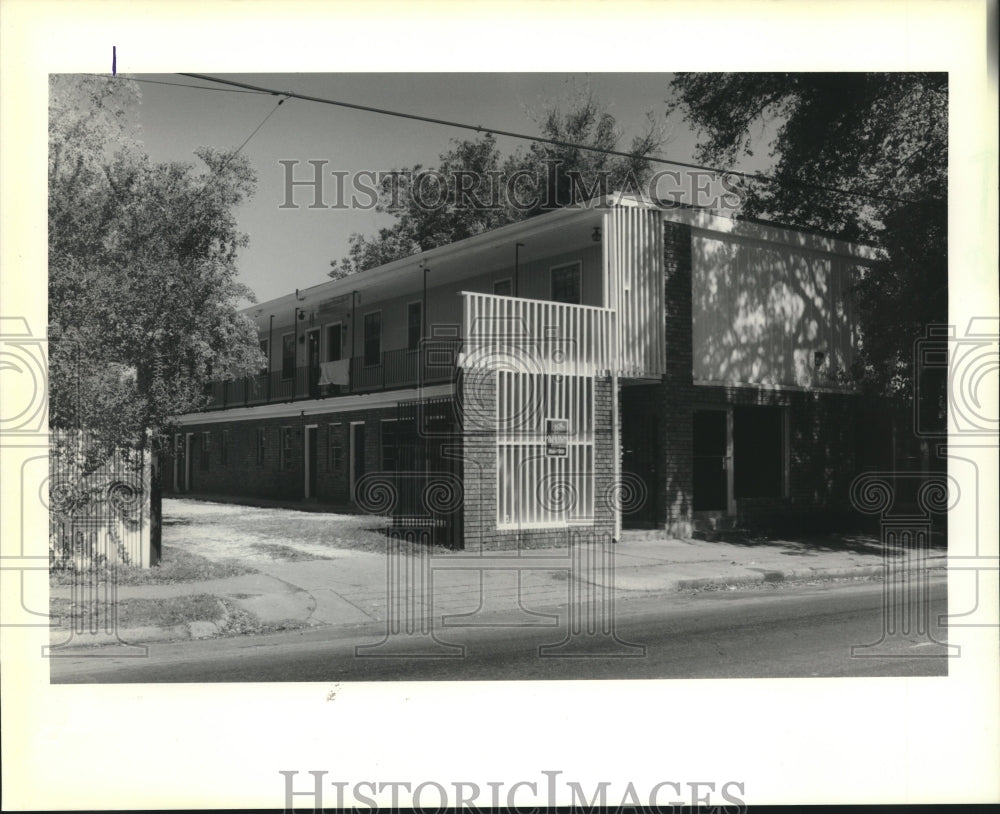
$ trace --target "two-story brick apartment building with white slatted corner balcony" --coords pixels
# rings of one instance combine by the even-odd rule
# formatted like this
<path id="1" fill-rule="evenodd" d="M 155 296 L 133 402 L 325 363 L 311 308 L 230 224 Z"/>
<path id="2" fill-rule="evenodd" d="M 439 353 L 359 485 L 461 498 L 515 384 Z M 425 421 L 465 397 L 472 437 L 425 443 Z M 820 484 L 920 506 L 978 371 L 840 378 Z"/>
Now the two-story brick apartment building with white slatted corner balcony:
<path id="1" fill-rule="evenodd" d="M 182 418 L 165 486 L 468 549 L 843 510 L 872 259 L 609 196 L 330 280 L 248 309 L 267 368 Z"/>

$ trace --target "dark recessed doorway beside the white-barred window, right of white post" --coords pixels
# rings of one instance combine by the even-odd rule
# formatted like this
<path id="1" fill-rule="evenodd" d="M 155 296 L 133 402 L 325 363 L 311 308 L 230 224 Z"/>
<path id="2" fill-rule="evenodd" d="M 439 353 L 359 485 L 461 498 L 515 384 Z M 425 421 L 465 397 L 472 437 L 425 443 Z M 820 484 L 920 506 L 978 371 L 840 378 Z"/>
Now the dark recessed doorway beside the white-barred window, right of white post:
<path id="1" fill-rule="evenodd" d="M 627 529 L 656 528 L 660 520 L 661 464 L 660 415 L 653 400 L 657 387 L 633 386 L 622 388 L 622 479 L 623 496 L 636 494 L 637 500 L 623 501 L 622 527 Z M 629 478 L 637 478 L 644 490 L 624 488 Z M 641 500 L 642 493 L 645 499 Z"/>

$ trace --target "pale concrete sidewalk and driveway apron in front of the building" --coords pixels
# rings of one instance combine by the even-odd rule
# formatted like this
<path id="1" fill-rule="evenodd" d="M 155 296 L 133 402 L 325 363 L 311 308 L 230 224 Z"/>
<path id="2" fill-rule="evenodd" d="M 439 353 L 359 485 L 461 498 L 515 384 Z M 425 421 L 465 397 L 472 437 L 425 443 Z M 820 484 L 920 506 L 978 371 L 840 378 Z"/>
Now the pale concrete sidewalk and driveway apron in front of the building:
<path id="1" fill-rule="evenodd" d="M 599 553 L 599 552 L 594 552 Z M 709 542 L 675 539 L 663 532 L 626 532 L 610 547 L 613 568 L 571 568 L 566 548 L 522 552 L 468 552 L 405 555 L 390 573 L 384 554 L 337 550 L 330 559 L 255 562 L 260 573 L 202 582 L 122 586 L 117 600 L 168 599 L 207 594 L 238 607 L 262 625 L 302 627 L 385 622 L 389 608 L 411 618 L 429 614 L 434 625 L 553 625 L 545 609 L 565 606 L 572 596 L 614 601 L 658 594 L 664 601 L 678 591 L 748 586 L 785 580 L 881 576 L 885 565 L 879 541 L 865 536 L 831 535 L 802 540 Z M 593 560 L 591 560 L 593 562 Z M 894 559 L 901 569 L 940 569 L 946 551 L 926 556 L 904 552 Z M 423 564 L 425 567 L 421 569 Z M 605 564 L 607 562 L 605 561 Z M 390 579 L 393 582 L 390 582 Z M 390 597 L 390 594 L 391 597 Z M 54 598 L 69 598 L 71 588 L 52 588 Z M 603 597 L 603 599 L 602 599 Z M 404 610 L 400 610 L 403 608 Z M 168 628 L 74 634 L 73 646 L 206 638 L 227 632 L 221 622 L 189 622 Z M 55 631 L 53 642 L 66 642 Z"/>

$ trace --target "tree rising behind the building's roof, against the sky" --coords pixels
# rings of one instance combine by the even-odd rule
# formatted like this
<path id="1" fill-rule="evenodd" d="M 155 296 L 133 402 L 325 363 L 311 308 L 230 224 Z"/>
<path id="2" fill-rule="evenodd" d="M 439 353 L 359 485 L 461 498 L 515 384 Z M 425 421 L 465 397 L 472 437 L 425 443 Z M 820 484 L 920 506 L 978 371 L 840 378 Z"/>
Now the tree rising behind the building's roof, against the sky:
<path id="1" fill-rule="evenodd" d="M 577 94 L 565 112 L 553 106 L 536 120 L 547 139 L 619 149 L 621 131 L 614 117 L 587 91 Z M 437 167 L 416 165 L 387 174 L 378 210 L 395 223 L 374 238 L 351 235 L 347 256 L 330 264 L 329 275 L 341 278 L 612 190 L 638 191 L 651 174 L 646 156 L 663 140 L 651 116 L 627 158 L 543 142 L 504 157 L 490 133 L 452 140 Z"/>

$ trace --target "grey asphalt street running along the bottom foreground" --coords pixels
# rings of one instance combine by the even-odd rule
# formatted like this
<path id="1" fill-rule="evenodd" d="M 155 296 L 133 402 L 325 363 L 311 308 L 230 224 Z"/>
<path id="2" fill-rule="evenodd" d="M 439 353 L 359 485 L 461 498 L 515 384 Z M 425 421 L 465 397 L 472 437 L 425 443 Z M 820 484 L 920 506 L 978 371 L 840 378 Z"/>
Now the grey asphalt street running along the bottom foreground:
<path id="1" fill-rule="evenodd" d="M 947 675 L 947 584 L 911 608 L 929 632 L 891 629 L 879 582 L 701 591 L 615 605 L 613 635 L 584 624 L 442 627 L 386 639 L 386 626 L 150 644 L 144 658 L 112 647 L 51 660 L 53 683 L 302 682 L 777 678 Z M 898 610 L 898 609 L 897 609 Z M 898 617 L 897 617 L 898 618 Z M 915 618 L 915 617 L 914 617 Z M 544 618 L 541 621 L 546 621 Z M 886 627 L 890 624 L 887 633 Z M 567 641 L 568 638 L 568 641 Z M 876 644 L 876 647 L 868 645 Z M 561 645 L 561 646 L 560 646 Z M 854 652 L 852 653 L 852 647 Z M 360 650 L 358 648 L 361 648 Z M 860 648 L 860 649 L 859 649 Z"/>

